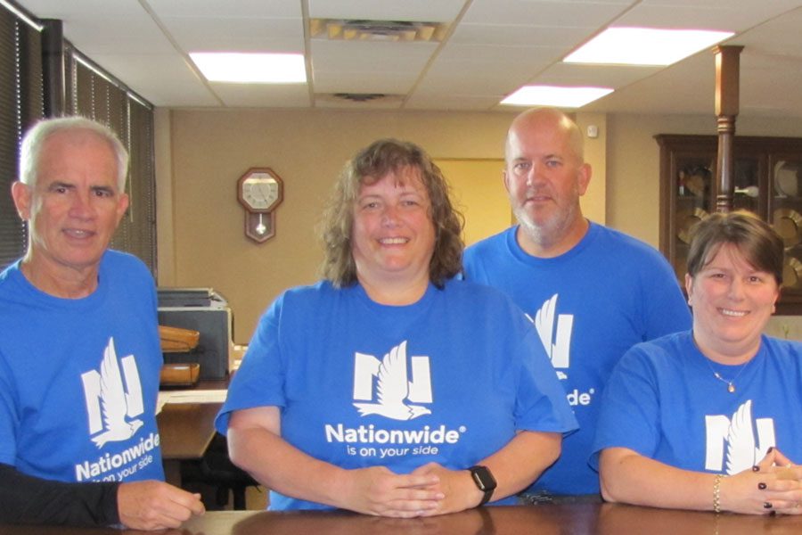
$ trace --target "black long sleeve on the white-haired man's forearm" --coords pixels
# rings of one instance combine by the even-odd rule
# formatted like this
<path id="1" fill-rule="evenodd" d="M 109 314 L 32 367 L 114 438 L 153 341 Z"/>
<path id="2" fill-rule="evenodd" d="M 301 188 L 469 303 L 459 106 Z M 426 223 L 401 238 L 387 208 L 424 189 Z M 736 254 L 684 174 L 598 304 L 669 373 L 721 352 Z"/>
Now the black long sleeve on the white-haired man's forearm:
<path id="1" fill-rule="evenodd" d="M 45 480 L 0 464 L 0 523 L 115 525 L 118 488 L 118 482 Z"/>

